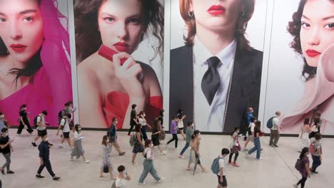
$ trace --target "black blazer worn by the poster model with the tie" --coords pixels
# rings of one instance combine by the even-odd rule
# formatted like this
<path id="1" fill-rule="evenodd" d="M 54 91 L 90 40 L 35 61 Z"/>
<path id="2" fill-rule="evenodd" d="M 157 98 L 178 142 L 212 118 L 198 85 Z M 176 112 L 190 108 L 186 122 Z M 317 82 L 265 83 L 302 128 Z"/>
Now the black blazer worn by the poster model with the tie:
<path id="1" fill-rule="evenodd" d="M 263 52 L 255 49 L 241 51 L 237 46 L 222 132 L 233 132 L 234 127 L 241 127 L 241 132 L 246 131 L 243 117 L 248 107 L 253 107 L 253 115 L 257 117 L 262 59 Z M 182 46 L 171 50 L 170 64 L 169 119 L 176 115 L 178 108 L 182 108 L 187 119 L 193 120 L 193 46 Z"/>

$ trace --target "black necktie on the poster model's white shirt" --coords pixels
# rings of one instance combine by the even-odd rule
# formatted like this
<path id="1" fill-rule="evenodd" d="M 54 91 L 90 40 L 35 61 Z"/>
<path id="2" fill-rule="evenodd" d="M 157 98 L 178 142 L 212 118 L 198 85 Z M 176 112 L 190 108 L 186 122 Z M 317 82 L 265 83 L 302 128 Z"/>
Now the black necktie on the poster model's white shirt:
<path id="1" fill-rule="evenodd" d="M 206 62 L 208 62 L 208 71 L 203 75 L 201 86 L 206 100 L 208 100 L 209 105 L 211 105 L 221 83 L 221 78 L 217 71 L 217 66 L 221 61 L 216 56 L 213 56 L 208 58 Z"/>

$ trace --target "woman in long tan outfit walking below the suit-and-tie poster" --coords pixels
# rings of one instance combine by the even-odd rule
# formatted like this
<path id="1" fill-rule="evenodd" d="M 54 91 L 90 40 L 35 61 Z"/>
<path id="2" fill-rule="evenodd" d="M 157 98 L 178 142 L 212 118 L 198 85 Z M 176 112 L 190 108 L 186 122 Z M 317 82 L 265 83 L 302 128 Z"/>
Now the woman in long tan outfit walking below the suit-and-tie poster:
<path id="1" fill-rule="evenodd" d="M 195 130 L 193 132 L 193 136 L 191 137 L 191 152 L 189 155 L 189 162 L 188 162 L 188 167 L 187 170 L 191 170 L 190 166 L 191 163 L 193 164 L 197 164 L 201 167 L 202 172 L 206 172 L 206 169 L 203 167 L 203 165 L 201 164 L 201 160 L 200 160 L 200 152 L 199 152 L 199 146 L 201 144 L 201 132 L 199 130 Z M 194 169 L 195 170 L 195 169 Z"/>

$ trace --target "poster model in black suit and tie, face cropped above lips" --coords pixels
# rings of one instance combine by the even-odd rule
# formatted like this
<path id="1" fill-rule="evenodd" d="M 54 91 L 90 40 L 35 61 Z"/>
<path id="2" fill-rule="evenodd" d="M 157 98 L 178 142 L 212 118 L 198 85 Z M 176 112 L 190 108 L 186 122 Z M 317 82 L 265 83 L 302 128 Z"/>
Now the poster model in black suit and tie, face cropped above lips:
<path id="1" fill-rule="evenodd" d="M 245 36 L 255 1 L 179 2 L 188 34 L 171 50 L 169 114 L 182 108 L 201 131 L 232 132 L 249 106 L 258 115 L 263 53 Z"/>

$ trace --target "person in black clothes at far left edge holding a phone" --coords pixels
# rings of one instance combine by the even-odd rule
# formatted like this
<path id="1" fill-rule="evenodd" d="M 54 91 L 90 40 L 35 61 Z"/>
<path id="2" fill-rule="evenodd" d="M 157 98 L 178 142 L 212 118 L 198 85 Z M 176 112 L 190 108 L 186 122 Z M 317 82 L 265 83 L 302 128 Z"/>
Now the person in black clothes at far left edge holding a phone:
<path id="1" fill-rule="evenodd" d="M 2 165 L 1 173 L 5 174 L 4 168 L 7 169 L 7 174 L 14 174 L 13 171 L 11 171 L 11 152 L 14 152 L 13 147 L 11 147 L 11 142 L 14 142 L 14 140 L 9 139 L 9 133 L 7 128 L 3 128 L 1 130 L 1 137 L 0 137 L 0 147 L 2 155 L 4 155 L 4 158 L 6 162 L 4 165 Z"/>

